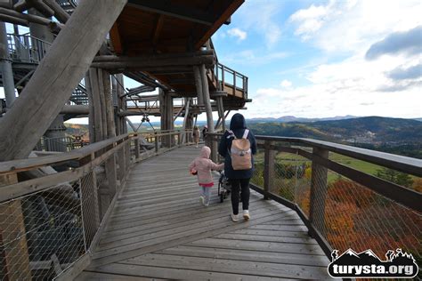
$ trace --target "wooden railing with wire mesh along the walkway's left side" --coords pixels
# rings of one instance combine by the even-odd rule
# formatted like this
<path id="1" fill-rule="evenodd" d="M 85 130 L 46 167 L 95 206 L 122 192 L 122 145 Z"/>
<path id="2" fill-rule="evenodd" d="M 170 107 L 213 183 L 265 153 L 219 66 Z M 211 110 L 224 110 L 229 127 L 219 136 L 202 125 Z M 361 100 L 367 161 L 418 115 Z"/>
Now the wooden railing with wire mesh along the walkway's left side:
<path id="1" fill-rule="evenodd" d="M 131 165 L 187 144 L 183 134 L 191 132 L 125 134 L 0 163 L 1 278 L 76 277 L 91 261 Z"/>

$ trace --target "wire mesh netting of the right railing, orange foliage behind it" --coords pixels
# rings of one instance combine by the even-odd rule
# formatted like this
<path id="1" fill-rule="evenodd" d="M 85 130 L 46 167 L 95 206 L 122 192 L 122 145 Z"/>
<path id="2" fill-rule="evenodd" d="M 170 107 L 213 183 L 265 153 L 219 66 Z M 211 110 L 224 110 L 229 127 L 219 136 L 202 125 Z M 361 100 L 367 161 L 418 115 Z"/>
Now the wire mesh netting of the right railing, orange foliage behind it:
<path id="1" fill-rule="evenodd" d="M 329 159 L 408 189 L 418 192 L 422 189 L 421 179 L 409 174 L 334 153 L 329 154 Z M 421 213 L 341 174 L 321 166 L 313 168 L 315 171 L 307 158 L 286 152 L 275 154 L 270 192 L 296 203 L 329 244 L 340 252 L 349 248 L 357 252 L 371 249 L 385 259 L 388 250 L 402 248 L 422 264 Z M 314 175 L 313 183 L 312 173 L 318 173 Z M 251 182 L 264 187 L 263 149 L 256 155 L 256 170 Z M 318 190 L 313 195 L 312 184 Z"/>

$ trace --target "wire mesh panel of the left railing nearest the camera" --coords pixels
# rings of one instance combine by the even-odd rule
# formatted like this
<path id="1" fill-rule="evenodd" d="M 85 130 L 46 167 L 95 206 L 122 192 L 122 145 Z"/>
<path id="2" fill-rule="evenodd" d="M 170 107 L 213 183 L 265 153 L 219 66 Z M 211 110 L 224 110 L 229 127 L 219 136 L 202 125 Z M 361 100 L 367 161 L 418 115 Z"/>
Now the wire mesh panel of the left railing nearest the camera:
<path id="1" fill-rule="evenodd" d="M 49 280 L 85 253 L 78 182 L 0 205 L 2 280 Z"/>

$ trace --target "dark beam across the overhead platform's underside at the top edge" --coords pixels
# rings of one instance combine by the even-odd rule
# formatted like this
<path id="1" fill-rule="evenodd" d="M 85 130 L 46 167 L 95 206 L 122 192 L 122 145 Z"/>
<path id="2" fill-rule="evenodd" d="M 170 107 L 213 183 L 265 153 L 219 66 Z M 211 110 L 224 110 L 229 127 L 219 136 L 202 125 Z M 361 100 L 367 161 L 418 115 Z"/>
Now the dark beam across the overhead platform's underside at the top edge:
<path id="1" fill-rule="evenodd" d="M 144 11 L 157 12 L 169 17 L 189 20 L 207 26 L 213 25 L 215 20 L 212 13 L 202 12 L 197 9 L 190 8 L 186 5 L 179 5 L 174 3 L 168 4 L 166 1 L 129 0 L 127 5 L 142 9 Z"/>

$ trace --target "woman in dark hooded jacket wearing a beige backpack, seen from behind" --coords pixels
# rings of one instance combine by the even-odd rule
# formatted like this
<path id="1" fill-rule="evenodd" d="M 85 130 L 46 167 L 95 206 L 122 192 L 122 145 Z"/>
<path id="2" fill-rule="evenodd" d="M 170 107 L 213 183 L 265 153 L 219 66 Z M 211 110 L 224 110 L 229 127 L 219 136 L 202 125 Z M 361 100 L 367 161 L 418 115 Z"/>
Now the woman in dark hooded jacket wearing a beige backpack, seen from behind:
<path id="1" fill-rule="evenodd" d="M 231 220 L 239 221 L 239 191 L 243 218 L 248 221 L 249 181 L 252 178 L 256 140 L 246 126 L 245 117 L 236 113 L 231 117 L 230 131 L 226 131 L 218 146 L 224 160 L 224 173 L 231 183 Z M 251 155 L 252 154 L 252 155 Z"/>

